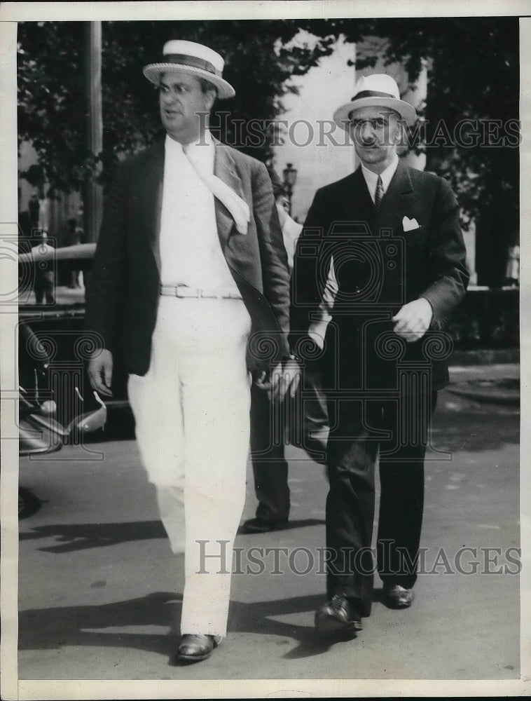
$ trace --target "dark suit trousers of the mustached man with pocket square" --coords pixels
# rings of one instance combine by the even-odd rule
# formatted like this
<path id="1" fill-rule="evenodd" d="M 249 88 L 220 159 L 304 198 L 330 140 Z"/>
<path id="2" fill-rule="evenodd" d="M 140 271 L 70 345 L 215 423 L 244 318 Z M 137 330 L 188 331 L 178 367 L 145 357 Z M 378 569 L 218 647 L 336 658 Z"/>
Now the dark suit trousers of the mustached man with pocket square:
<path id="1" fill-rule="evenodd" d="M 327 590 L 369 615 L 374 468 L 379 454 L 377 562 L 382 580 L 413 587 L 424 506 L 424 458 L 436 392 L 400 400 L 329 399 L 338 417 L 329 436 L 326 499 Z"/>

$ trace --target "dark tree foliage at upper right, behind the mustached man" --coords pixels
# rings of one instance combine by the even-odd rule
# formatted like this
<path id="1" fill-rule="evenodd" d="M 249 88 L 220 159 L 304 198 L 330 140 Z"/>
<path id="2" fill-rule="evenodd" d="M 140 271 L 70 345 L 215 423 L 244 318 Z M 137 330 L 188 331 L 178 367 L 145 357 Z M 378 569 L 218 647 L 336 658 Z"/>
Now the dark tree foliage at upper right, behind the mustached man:
<path id="1" fill-rule="evenodd" d="M 512 133 L 506 144 L 498 137 L 519 119 L 518 17 L 308 20 L 303 28 L 352 42 L 385 39 L 385 62 L 400 63 L 412 85 L 427 65 L 426 143 L 413 146 L 425 151 L 427 170 L 448 179 L 466 217 L 488 212 L 499 217 L 509 241 L 517 238 L 518 136 Z M 369 49 L 357 55 L 356 66 L 371 67 L 377 58 Z M 460 132 L 465 119 L 472 124 Z"/>

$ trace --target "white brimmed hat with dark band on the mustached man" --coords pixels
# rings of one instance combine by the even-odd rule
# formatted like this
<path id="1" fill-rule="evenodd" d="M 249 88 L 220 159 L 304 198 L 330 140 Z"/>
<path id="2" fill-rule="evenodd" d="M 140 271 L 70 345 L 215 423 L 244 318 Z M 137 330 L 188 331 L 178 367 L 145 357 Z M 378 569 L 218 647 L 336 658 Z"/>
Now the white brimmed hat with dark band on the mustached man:
<path id="1" fill-rule="evenodd" d="M 359 107 L 385 107 L 394 109 L 401 118 L 411 125 L 415 123 L 417 112 L 409 102 L 400 99 L 400 93 L 396 81 L 385 73 L 375 73 L 371 76 L 362 76 L 354 86 L 354 97 L 350 102 L 342 104 L 333 113 L 333 121 L 338 126 L 349 128 L 350 115 Z"/>

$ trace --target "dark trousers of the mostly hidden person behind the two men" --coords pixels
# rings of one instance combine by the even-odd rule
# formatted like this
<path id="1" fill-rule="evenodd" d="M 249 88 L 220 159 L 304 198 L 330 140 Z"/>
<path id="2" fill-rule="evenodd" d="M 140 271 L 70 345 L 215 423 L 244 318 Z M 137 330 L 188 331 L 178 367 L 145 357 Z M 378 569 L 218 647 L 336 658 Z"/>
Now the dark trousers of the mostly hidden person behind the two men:
<path id="1" fill-rule="evenodd" d="M 303 415 L 291 411 L 292 435 L 294 422 L 303 426 L 302 444 L 310 458 L 325 460 L 328 418 L 326 399 L 321 391 L 320 369 L 308 364 L 304 374 Z M 251 388 L 251 460 L 254 491 L 258 499 L 256 517 L 264 521 L 285 521 L 289 517 L 288 463 L 284 458 L 286 416 L 274 411 L 268 395 L 256 386 Z M 323 434 L 325 437 L 323 437 Z M 291 443 L 296 441 L 291 438 Z"/>

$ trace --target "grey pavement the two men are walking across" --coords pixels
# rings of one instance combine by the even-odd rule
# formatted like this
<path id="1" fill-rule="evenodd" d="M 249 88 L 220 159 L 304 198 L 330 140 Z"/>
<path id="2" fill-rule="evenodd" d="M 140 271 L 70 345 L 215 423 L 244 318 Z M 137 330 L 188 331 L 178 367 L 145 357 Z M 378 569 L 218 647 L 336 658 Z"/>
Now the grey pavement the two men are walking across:
<path id="1" fill-rule="evenodd" d="M 326 588 L 317 553 L 325 543 L 328 487 L 324 468 L 301 449 L 286 451 L 288 528 L 237 536 L 242 566 L 251 572 L 233 576 L 228 637 L 212 658 L 188 667 L 170 663 L 179 633 L 182 559 L 170 552 L 136 442 L 106 440 L 85 450 L 67 446 L 40 461 L 22 458 L 20 484 L 41 508 L 20 521 L 20 679 L 188 684 L 172 687 L 170 697 L 197 697 L 200 687 L 190 685 L 207 679 L 228 680 L 207 692 L 211 697 L 234 695 L 230 681 L 241 679 L 299 680 L 298 686 L 269 686 L 270 692 L 302 692 L 309 679 L 341 680 L 329 683 L 329 696 L 340 689 L 367 695 L 362 688 L 370 679 L 483 680 L 476 693 L 489 693 L 493 680 L 518 679 L 518 407 L 455 392 L 467 382 L 499 388 L 516 381 L 518 370 L 518 364 L 450 369 L 425 469 L 427 572 L 406 611 L 382 604 L 376 576 L 371 617 L 347 642 L 324 641 L 313 627 Z M 242 521 L 255 509 L 249 463 Z M 266 555 L 271 548 L 282 574 L 275 573 L 273 554 Z M 460 553 L 464 572 L 455 570 Z M 313 566 L 305 573 L 310 557 Z M 347 679 L 357 681 L 338 686 Z M 74 698 L 83 681 L 72 683 Z M 398 687 L 384 688 L 394 695 Z"/>

